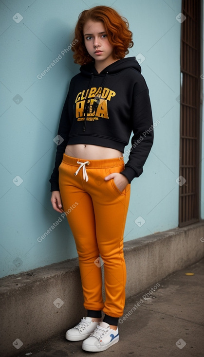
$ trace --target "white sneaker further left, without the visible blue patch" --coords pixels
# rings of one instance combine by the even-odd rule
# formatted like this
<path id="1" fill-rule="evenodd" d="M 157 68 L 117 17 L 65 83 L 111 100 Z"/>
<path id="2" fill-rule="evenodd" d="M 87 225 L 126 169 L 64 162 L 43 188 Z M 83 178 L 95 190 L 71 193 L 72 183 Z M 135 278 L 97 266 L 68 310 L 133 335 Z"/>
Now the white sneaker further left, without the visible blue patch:
<path id="1" fill-rule="evenodd" d="M 81 321 L 73 328 L 67 330 L 66 339 L 70 341 L 81 341 L 87 339 L 94 331 L 98 322 L 93 322 L 91 317 L 83 317 Z"/>

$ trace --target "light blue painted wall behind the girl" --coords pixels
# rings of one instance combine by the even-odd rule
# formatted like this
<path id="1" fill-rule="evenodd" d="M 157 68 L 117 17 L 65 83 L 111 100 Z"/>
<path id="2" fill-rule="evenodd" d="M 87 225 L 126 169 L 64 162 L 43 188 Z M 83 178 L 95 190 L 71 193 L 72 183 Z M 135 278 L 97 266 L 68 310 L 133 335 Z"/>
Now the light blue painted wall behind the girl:
<path id="1" fill-rule="evenodd" d="M 103 4 L 111 6 L 112 1 Z M 53 139 L 70 79 L 79 66 L 69 51 L 42 79 L 37 75 L 69 46 L 79 13 L 95 5 L 100 3 L 0 2 L 1 277 L 77 256 L 66 219 L 41 242 L 37 238 L 60 217 L 50 202 Z M 129 56 L 145 57 L 142 73 L 154 122 L 159 123 L 144 173 L 131 185 L 124 237 L 128 241 L 178 226 L 181 24 L 176 16 L 181 0 L 116 0 L 113 7 L 130 22 L 134 47 Z M 23 17 L 19 23 L 17 13 Z M 141 227 L 135 223 L 144 222 L 140 216 L 145 220 L 138 223 Z"/>

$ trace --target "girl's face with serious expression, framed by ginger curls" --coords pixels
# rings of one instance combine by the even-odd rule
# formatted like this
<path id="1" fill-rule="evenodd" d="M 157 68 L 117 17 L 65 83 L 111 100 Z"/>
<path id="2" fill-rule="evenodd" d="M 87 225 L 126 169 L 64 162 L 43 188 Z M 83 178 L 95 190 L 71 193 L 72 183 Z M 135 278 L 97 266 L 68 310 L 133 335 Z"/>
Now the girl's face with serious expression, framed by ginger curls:
<path id="1" fill-rule="evenodd" d="M 112 57 L 113 46 L 108 40 L 108 35 L 102 21 L 88 20 L 83 28 L 85 47 L 95 60 L 105 67 L 116 60 Z M 105 68 L 104 67 L 104 68 Z"/>

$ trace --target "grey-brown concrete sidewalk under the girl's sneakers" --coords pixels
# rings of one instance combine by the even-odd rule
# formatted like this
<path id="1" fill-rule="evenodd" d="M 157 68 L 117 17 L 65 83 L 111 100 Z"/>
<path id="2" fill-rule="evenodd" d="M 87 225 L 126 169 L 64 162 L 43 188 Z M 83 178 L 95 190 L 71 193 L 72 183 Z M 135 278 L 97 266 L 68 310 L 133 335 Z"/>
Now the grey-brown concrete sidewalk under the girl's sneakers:
<path id="1" fill-rule="evenodd" d="M 119 321 L 119 342 L 100 354 L 67 341 L 64 331 L 16 356 L 204 356 L 204 259 L 129 298 Z"/>

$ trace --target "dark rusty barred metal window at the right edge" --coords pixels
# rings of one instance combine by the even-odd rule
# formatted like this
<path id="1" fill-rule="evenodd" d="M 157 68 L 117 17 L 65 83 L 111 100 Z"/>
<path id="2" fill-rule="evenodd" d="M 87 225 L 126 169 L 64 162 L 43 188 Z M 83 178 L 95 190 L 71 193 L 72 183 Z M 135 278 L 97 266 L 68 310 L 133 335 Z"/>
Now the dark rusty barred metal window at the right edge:
<path id="1" fill-rule="evenodd" d="M 179 227 L 199 220 L 200 0 L 182 0 L 182 14 Z"/>

